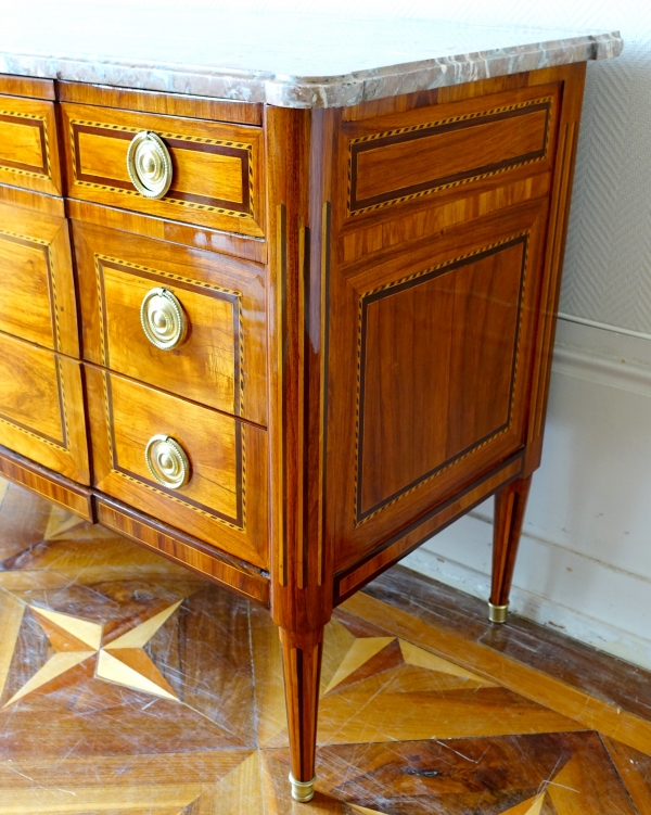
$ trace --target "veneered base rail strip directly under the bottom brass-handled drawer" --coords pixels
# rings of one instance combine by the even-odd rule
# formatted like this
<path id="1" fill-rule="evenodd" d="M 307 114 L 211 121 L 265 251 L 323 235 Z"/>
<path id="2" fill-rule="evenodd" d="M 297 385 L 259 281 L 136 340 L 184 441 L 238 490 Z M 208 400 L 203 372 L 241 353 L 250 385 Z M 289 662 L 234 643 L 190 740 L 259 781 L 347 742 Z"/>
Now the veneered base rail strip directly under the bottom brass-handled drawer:
<path id="1" fill-rule="evenodd" d="M 245 561 L 208 547 L 173 526 L 95 494 L 98 523 L 261 606 L 269 606 L 269 577 Z"/>

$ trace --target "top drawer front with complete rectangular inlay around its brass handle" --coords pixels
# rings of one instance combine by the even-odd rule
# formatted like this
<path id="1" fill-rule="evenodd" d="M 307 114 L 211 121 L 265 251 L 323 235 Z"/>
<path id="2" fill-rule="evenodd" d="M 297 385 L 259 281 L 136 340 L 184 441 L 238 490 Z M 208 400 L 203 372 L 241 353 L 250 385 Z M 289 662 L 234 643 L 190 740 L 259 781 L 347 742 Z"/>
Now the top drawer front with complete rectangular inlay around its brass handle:
<path id="1" fill-rule="evenodd" d="M 263 235 L 261 129 L 200 119 L 63 103 L 68 195 L 148 215 Z M 131 182 L 127 151 L 142 131 L 156 133 L 171 160 L 162 199 Z"/>

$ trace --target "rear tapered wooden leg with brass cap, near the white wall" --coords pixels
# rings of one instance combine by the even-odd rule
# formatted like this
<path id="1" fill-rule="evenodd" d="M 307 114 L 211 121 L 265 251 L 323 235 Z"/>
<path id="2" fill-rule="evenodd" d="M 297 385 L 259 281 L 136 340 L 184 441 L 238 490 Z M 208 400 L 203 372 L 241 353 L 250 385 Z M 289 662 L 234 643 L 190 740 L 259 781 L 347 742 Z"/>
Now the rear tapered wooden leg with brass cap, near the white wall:
<path id="1" fill-rule="evenodd" d="M 531 475 L 527 479 L 518 479 L 507 484 L 495 496 L 493 586 L 488 602 L 488 617 L 492 623 L 507 622 L 509 593 L 531 484 Z"/>

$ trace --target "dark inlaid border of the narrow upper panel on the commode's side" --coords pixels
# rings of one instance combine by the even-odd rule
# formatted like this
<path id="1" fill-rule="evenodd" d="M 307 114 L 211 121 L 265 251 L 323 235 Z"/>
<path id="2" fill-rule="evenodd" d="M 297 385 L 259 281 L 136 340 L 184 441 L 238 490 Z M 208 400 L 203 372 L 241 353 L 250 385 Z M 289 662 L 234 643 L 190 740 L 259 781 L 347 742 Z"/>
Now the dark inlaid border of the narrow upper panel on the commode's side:
<path id="1" fill-rule="evenodd" d="M 436 122 L 426 122 L 409 127 L 396 128 L 394 130 L 384 130 L 369 136 L 359 136 L 350 139 L 348 145 L 348 215 L 360 215 L 361 213 L 381 209 L 392 204 L 399 204 L 405 201 L 431 195 L 434 192 L 447 190 L 460 184 L 478 181 L 483 178 L 496 176 L 500 173 L 522 167 L 526 164 L 545 161 L 549 153 L 549 142 L 552 124 L 553 97 L 519 102 L 516 104 L 494 107 L 488 111 L 478 111 L 468 113 L 462 116 L 452 116 L 449 118 L 438 119 Z M 505 158 L 495 164 L 483 167 L 471 167 L 468 170 L 457 173 L 454 176 L 442 176 L 439 178 L 429 179 L 419 184 L 403 188 L 401 190 L 390 190 L 386 193 L 374 195 L 369 199 L 357 200 L 357 160 L 359 153 L 367 150 L 378 150 L 390 144 L 412 141 L 439 133 L 449 132 L 450 130 L 460 130 L 468 127 L 489 124 L 503 118 L 524 116 L 536 111 L 546 111 L 545 135 L 542 148 L 533 153 L 526 153 L 512 158 Z"/>

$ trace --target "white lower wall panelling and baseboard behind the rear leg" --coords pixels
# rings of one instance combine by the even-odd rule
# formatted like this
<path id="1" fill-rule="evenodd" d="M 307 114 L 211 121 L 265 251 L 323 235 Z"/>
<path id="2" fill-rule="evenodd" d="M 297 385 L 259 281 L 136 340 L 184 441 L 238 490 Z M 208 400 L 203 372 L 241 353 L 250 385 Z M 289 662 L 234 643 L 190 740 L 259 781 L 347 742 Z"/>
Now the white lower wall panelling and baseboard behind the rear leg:
<path id="1" fill-rule="evenodd" d="M 487 599 L 492 501 L 405 560 Z M 651 668 L 651 342 L 561 320 L 515 613 Z"/>

